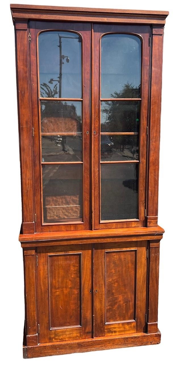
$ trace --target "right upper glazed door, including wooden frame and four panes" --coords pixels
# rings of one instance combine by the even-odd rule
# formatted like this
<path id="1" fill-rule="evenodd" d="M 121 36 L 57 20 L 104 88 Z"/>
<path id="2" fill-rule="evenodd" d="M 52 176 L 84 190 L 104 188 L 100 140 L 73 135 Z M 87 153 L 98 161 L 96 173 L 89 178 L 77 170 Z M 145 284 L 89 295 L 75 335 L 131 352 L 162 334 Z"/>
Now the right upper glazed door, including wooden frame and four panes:
<path id="1" fill-rule="evenodd" d="M 93 25 L 94 229 L 145 226 L 150 26 Z"/>

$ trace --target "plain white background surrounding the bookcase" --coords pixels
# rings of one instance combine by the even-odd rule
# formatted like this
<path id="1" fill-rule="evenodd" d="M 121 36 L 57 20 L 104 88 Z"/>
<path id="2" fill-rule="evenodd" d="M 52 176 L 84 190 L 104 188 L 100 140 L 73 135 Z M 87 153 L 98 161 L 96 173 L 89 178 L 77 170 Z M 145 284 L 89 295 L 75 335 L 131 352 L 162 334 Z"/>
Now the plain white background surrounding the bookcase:
<path id="1" fill-rule="evenodd" d="M 158 364 L 177 361 L 177 155 L 178 155 L 178 61 L 176 1 L 115 1 L 115 0 L 17 0 L 20 4 L 58 5 L 118 9 L 168 10 L 163 50 L 163 84 L 161 113 L 161 146 L 159 173 L 158 224 L 165 229 L 161 241 L 159 276 L 158 327 L 162 333 L 160 345 L 94 351 L 26 360 L 31 364 Z M 19 137 L 16 100 L 16 70 L 14 28 L 10 4 L 1 3 L 0 31 L 0 172 L 1 172 L 1 301 L 0 359 L 3 364 L 24 364 L 22 341 L 24 327 L 23 257 L 18 235 L 21 225 L 21 188 Z"/>

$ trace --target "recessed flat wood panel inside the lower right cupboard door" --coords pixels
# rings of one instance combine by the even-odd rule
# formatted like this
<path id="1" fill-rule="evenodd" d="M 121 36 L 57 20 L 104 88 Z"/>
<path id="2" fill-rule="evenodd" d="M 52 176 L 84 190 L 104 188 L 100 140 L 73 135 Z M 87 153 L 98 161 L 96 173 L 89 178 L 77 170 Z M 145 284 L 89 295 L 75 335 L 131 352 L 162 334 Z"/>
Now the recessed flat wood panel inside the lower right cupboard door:
<path id="1" fill-rule="evenodd" d="M 105 251 L 105 323 L 107 324 L 135 320 L 136 262 L 136 250 Z"/>

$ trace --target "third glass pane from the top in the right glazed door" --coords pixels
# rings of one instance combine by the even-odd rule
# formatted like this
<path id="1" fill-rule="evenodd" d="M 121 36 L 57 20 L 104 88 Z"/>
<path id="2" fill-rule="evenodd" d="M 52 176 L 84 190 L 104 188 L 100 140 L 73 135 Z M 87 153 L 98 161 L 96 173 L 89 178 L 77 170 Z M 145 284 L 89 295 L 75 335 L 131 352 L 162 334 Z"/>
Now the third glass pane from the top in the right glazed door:
<path id="1" fill-rule="evenodd" d="M 138 160 L 138 136 L 101 135 L 101 161 Z"/>

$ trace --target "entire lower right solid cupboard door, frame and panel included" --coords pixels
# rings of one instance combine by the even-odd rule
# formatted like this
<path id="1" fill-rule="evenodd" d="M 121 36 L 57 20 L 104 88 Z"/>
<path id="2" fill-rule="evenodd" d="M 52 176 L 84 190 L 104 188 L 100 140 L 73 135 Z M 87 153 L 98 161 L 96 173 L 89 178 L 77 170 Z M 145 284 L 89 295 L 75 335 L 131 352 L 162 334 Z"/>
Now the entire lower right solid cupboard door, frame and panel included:
<path id="1" fill-rule="evenodd" d="M 147 241 L 94 249 L 94 337 L 145 332 Z"/>

